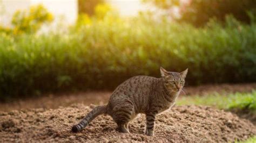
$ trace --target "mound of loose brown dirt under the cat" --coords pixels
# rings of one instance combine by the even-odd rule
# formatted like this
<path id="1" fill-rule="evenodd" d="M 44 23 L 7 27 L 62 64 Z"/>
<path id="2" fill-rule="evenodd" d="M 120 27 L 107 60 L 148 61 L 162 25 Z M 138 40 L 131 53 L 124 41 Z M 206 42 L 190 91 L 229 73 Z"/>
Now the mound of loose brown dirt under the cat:
<path id="1" fill-rule="evenodd" d="M 55 110 L 1 112 L 0 142 L 226 142 L 245 140 L 256 134 L 256 127 L 250 121 L 206 106 L 174 106 L 158 115 L 154 137 L 144 135 L 144 115 L 130 123 L 131 134 L 119 133 L 112 118 L 104 115 L 93 120 L 82 132 L 71 133 L 71 126 L 78 123 L 91 108 L 77 104 Z"/>

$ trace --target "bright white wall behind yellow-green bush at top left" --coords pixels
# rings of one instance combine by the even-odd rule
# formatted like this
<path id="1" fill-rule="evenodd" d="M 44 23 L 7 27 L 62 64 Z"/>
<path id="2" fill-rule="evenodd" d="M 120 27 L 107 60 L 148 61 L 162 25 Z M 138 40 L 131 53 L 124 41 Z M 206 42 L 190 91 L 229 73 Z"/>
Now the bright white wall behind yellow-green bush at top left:
<path id="1" fill-rule="evenodd" d="M 77 19 L 77 0 L 0 0 L 0 24 L 9 26 L 15 11 L 37 4 L 43 4 L 56 19 L 62 17 L 65 24 L 73 24 Z"/>

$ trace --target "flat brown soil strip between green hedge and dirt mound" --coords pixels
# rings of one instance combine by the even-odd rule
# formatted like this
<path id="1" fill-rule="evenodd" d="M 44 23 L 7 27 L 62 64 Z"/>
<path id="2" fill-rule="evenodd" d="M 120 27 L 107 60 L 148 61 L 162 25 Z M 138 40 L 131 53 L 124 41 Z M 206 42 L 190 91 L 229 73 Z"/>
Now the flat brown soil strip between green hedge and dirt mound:
<path id="1" fill-rule="evenodd" d="M 256 89 L 256 83 L 200 85 L 198 87 L 184 88 L 184 92 L 180 96 L 206 95 L 214 92 L 226 95 L 233 92 L 251 92 L 253 89 Z M 85 105 L 105 104 L 110 95 L 111 91 L 48 94 L 38 98 L 18 99 L 9 103 L 0 103 L 0 111 L 31 108 L 56 109 L 58 106 L 70 106 L 73 103 L 83 103 Z"/>

